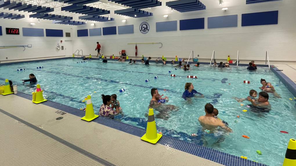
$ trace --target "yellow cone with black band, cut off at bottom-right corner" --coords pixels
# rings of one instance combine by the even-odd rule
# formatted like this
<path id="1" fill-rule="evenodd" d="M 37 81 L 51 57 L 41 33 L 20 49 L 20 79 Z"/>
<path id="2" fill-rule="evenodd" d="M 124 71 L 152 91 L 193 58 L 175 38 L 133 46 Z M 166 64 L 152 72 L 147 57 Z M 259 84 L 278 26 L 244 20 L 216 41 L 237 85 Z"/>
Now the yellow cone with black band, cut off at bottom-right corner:
<path id="1" fill-rule="evenodd" d="M 283 166 L 294 166 L 296 165 L 296 140 L 290 139 Z"/>

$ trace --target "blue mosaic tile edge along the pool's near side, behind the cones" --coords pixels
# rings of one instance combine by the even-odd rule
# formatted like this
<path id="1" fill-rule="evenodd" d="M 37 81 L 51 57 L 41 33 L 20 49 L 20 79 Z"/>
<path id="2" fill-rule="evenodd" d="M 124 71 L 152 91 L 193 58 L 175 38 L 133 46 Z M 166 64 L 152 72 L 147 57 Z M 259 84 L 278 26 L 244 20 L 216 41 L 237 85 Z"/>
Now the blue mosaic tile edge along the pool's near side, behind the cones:
<path id="1" fill-rule="evenodd" d="M 29 95 L 23 92 L 18 92 L 15 95 L 19 97 L 23 97 L 28 100 L 32 99 L 32 95 Z M 56 108 L 66 113 L 76 115 L 78 117 L 83 117 L 85 115 L 85 112 L 81 111 L 80 109 L 63 105 L 54 101 L 47 100 L 46 102 L 42 102 L 41 104 L 47 105 L 52 108 Z M 116 120 L 112 120 L 102 116 L 99 116 L 93 121 L 96 123 L 102 124 L 104 126 L 108 126 L 108 127 L 117 129 L 119 131 L 123 131 L 128 134 L 132 134 L 139 137 L 143 136 L 146 133 L 146 130 L 143 128 L 133 126 L 127 123 L 119 122 Z M 226 165 L 226 166 L 268 166 L 268 165 L 264 165 L 251 160 L 246 160 L 241 157 L 234 156 L 228 153 L 224 153 L 215 149 L 210 149 L 194 143 L 176 139 L 171 136 L 163 135 L 157 143 L 189 153 L 189 154 L 193 154 L 195 156 L 202 157 L 207 160 L 211 160 L 213 162 L 217 162 L 219 164 Z"/>

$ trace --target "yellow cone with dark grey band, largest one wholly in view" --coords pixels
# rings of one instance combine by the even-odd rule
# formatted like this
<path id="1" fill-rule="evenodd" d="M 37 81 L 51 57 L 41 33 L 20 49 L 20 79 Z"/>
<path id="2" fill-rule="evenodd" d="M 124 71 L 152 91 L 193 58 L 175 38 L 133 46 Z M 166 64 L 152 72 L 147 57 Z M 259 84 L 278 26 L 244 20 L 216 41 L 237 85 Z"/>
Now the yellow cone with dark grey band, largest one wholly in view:
<path id="1" fill-rule="evenodd" d="M 156 124 L 154 120 L 153 108 L 149 108 L 148 114 L 148 122 L 146 134 L 141 137 L 142 140 L 155 144 L 160 138 L 163 136 L 162 134 L 158 134 L 156 131 Z"/>

